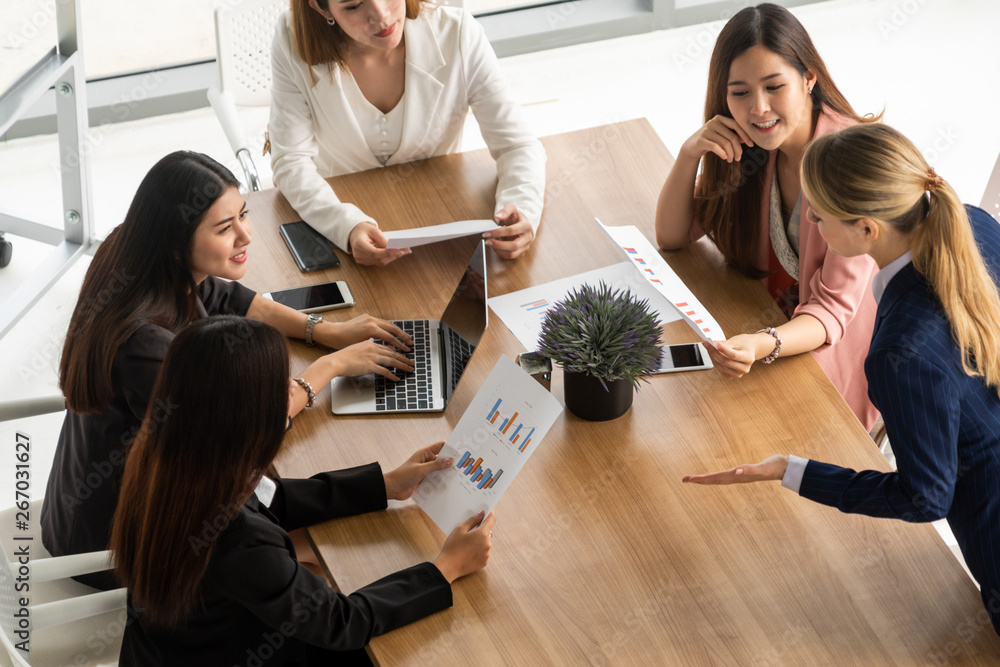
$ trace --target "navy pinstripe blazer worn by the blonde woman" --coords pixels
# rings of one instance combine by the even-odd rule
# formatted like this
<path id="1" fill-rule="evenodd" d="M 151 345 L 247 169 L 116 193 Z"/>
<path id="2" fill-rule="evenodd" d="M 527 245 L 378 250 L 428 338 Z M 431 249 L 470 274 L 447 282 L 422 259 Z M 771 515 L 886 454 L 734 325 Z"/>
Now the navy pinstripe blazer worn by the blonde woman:
<path id="1" fill-rule="evenodd" d="M 1000 225 L 979 208 L 967 210 L 1000 284 Z M 865 374 L 898 472 L 810 461 L 799 493 L 843 512 L 946 517 L 1000 633 L 1000 398 L 962 371 L 941 303 L 912 263 L 889 281 L 879 303 Z"/>

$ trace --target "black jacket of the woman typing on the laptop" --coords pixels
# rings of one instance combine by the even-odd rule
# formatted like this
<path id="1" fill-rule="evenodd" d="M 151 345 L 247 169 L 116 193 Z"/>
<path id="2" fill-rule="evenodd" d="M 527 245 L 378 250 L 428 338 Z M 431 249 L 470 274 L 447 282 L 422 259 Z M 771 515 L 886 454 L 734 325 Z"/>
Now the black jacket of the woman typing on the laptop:
<path id="1" fill-rule="evenodd" d="M 254 296 L 239 283 L 209 276 L 198 286 L 195 317 L 246 315 Z M 90 415 L 66 411 L 42 503 L 42 543 L 53 556 L 108 548 L 125 447 L 139 432 L 153 383 L 177 333 L 141 325 L 115 357 L 111 405 Z M 170 411 L 169 404 L 155 406 L 154 423 Z M 118 587 L 110 573 L 79 579 L 97 588 Z"/>

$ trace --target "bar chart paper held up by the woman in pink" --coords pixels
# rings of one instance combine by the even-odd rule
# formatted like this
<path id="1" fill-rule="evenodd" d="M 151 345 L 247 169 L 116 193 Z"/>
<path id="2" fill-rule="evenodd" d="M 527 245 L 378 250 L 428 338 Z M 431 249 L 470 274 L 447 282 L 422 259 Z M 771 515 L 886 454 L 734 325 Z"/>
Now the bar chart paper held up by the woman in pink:
<path id="1" fill-rule="evenodd" d="M 611 240 L 615 242 L 625 256 L 631 260 L 632 267 L 643 276 L 650 285 L 662 294 L 681 317 L 691 326 L 702 340 L 712 343 L 715 340 L 726 340 L 722 327 L 715 321 L 708 309 L 701 305 L 684 281 L 677 277 L 666 260 L 660 255 L 653 244 L 646 240 L 633 225 L 609 227 L 594 218 Z"/>

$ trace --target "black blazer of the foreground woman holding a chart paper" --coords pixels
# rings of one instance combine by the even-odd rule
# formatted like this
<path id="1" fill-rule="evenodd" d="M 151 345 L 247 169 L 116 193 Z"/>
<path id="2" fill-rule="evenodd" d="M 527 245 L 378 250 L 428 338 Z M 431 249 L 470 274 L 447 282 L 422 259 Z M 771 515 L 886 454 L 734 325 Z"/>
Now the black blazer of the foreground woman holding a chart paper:
<path id="1" fill-rule="evenodd" d="M 189 618 L 154 626 L 130 603 L 122 667 L 350 664 L 373 636 L 451 606 L 431 563 L 343 595 L 295 559 L 287 530 L 386 507 L 377 463 L 275 481 L 270 507 L 252 496 L 217 537 L 197 537 L 215 552 Z"/>

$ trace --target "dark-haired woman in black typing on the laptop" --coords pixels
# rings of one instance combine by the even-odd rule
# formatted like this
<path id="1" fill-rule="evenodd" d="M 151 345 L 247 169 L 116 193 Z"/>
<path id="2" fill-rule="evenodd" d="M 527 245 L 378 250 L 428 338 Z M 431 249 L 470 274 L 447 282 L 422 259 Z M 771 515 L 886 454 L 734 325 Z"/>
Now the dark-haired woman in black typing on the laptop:
<path id="1" fill-rule="evenodd" d="M 289 413 L 311 405 L 338 375 L 411 369 L 398 351 L 412 341 L 367 315 L 322 322 L 255 295 L 246 271 L 249 212 L 233 174 L 206 155 L 176 152 L 150 169 L 124 222 L 100 245 L 70 319 L 59 366 L 68 407 L 42 505 L 42 540 L 56 556 L 107 548 L 125 447 L 169 418 L 175 405 L 150 403 L 153 381 L 178 331 L 213 314 L 269 322 L 286 336 L 336 348 L 289 384 Z M 227 282 L 232 281 L 232 282 Z M 233 341 L 234 344 L 238 340 Z M 81 577 L 114 586 L 106 573 Z"/>

